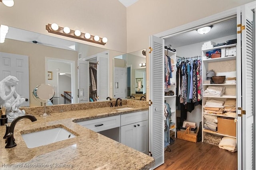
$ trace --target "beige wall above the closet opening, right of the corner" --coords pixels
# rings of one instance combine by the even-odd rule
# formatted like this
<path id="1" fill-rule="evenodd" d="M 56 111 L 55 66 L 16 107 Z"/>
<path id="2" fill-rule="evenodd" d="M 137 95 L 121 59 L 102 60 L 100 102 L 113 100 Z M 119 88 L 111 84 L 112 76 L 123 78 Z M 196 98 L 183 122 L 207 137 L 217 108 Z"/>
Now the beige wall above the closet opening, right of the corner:
<path id="1" fill-rule="evenodd" d="M 148 49 L 149 36 L 253 0 L 138 0 L 127 8 L 127 53 Z"/>

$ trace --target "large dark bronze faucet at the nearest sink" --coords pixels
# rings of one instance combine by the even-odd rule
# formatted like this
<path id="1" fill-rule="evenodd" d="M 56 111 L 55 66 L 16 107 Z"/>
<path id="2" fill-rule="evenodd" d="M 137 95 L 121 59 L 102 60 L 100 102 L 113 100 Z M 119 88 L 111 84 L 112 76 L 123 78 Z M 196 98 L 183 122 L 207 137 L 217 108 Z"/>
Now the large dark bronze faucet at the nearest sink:
<path id="1" fill-rule="evenodd" d="M 6 139 L 5 143 L 7 143 L 5 148 L 12 148 L 12 147 L 15 147 L 17 145 L 14 142 L 15 139 L 13 137 L 14 127 L 15 127 L 16 123 L 18 121 L 20 121 L 20 119 L 24 119 L 24 118 L 30 119 L 31 121 L 36 121 L 37 120 L 36 117 L 34 117 L 33 115 L 22 115 L 22 116 L 16 117 L 12 121 L 10 126 L 7 123 L 4 124 L 4 125 L 6 125 L 6 132 L 5 132 L 5 135 L 4 135 L 4 139 Z"/>

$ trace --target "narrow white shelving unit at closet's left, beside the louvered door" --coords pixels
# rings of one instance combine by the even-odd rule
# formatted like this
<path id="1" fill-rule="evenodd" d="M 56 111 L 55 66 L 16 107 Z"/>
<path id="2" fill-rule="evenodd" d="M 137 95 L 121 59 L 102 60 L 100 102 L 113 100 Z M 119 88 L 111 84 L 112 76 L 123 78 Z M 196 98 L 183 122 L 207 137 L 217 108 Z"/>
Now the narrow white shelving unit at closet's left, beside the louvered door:
<path id="1" fill-rule="evenodd" d="M 170 50 L 166 50 L 164 49 L 164 53 L 165 55 L 168 55 L 171 59 L 173 59 L 174 62 L 176 62 L 176 53 Z M 175 134 L 175 138 L 176 138 L 176 63 L 172 64 L 172 66 L 174 67 L 174 72 L 172 72 L 172 77 L 175 80 L 175 84 L 171 84 L 168 88 L 168 91 L 172 90 L 174 91 L 174 96 L 164 96 L 164 100 L 166 100 L 166 103 L 169 104 L 170 108 L 171 108 L 171 113 L 172 116 L 170 117 L 170 133 L 174 133 Z M 167 91 L 167 92 L 168 92 Z"/>

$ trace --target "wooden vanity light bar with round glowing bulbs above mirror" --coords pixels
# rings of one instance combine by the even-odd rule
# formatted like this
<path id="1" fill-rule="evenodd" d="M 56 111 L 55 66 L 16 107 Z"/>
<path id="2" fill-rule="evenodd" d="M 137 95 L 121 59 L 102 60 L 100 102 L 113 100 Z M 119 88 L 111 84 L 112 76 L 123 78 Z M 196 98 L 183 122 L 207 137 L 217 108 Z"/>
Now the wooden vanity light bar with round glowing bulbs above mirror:
<path id="1" fill-rule="evenodd" d="M 58 35 L 63 35 L 66 37 L 71 37 L 71 38 L 75 38 L 75 39 L 80 39 L 80 40 L 84 40 L 84 41 L 88 41 L 91 43 L 96 43 L 96 44 L 100 44 L 100 45 L 105 45 L 106 42 L 108 42 L 108 39 L 106 37 L 100 38 L 98 35 L 90 35 L 90 33 L 81 33 L 79 30 L 71 30 L 68 27 L 59 27 L 56 23 L 48 23 L 48 25 L 46 25 L 46 30 L 49 33 L 54 33 L 54 34 L 58 34 Z M 58 28 L 57 28 L 58 26 Z M 67 28 L 69 29 L 69 31 L 66 31 Z"/>

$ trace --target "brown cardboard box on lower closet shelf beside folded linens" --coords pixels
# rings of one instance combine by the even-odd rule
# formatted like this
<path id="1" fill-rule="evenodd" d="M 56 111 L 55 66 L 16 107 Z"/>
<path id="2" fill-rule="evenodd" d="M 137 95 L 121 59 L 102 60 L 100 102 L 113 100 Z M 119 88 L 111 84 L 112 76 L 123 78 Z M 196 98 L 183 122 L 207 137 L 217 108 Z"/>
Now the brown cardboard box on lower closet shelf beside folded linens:
<path id="1" fill-rule="evenodd" d="M 236 123 L 234 118 L 218 117 L 218 133 L 235 137 Z"/>

